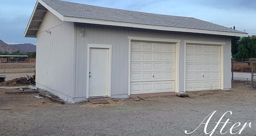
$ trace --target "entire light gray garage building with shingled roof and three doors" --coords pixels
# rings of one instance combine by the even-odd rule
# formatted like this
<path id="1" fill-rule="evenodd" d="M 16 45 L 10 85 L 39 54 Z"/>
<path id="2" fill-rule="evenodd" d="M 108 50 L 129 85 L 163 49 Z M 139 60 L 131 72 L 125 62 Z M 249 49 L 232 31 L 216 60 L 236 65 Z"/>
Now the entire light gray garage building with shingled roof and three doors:
<path id="1" fill-rule="evenodd" d="M 196 18 L 38 0 L 36 86 L 69 102 L 231 88 L 231 37 Z"/>

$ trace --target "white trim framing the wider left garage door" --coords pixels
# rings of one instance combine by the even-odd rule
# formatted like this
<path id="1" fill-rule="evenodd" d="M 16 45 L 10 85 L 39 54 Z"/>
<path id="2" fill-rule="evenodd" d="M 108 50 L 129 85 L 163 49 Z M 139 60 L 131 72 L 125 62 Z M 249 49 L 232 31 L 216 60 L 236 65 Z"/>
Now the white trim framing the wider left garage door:
<path id="1" fill-rule="evenodd" d="M 177 80 L 179 76 L 179 60 L 180 59 L 180 42 L 181 40 L 177 39 L 163 39 L 163 38 L 150 38 L 150 37 L 135 37 L 128 36 L 128 96 L 130 96 L 130 65 L 131 65 L 131 40 L 142 40 L 142 41 L 151 41 L 151 42 L 174 42 L 176 43 L 176 59 L 175 59 L 175 92 L 179 92 L 180 82 Z"/>

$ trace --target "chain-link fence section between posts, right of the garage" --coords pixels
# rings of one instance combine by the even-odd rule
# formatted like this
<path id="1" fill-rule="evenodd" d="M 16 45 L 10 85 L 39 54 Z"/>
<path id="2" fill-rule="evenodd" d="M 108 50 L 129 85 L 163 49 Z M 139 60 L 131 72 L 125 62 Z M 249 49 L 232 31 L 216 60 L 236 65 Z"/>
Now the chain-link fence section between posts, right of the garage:
<path id="1" fill-rule="evenodd" d="M 250 82 L 252 79 L 252 61 L 232 59 L 232 80 Z"/>

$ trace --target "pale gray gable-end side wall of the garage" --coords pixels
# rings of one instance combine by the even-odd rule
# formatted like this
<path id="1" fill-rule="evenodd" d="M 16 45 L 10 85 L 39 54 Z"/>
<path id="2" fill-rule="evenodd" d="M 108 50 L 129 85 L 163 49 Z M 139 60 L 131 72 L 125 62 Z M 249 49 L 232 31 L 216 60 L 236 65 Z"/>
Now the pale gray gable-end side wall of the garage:
<path id="1" fill-rule="evenodd" d="M 45 87 L 42 89 L 74 97 L 73 79 L 74 23 L 63 22 L 48 11 L 36 38 L 36 83 Z"/>

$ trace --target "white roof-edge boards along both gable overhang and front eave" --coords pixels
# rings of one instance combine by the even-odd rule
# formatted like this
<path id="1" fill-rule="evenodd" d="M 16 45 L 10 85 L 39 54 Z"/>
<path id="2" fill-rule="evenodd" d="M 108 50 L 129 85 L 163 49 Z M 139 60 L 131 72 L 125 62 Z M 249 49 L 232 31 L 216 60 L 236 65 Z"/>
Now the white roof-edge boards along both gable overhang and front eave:
<path id="1" fill-rule="evenodd" d="M 40 6 L 38 6 L 40 5 Z M 40 9 L 46 8 L 50 12 L 52 12 L 55 16 L 60 18 L 62 21 L 67 22 L 79 22 L 79 23 L 88 23 L 88 24 L 102 24 L 102 25 L 110 25 L 110 26 L 124 26 L 124 27 L 132 27 L 132 28 L 143 28 L 143 29 L 152 29 L 152 30 L 164 30 L 164 31 L 175 31 L 175 32 L 191 32 L 191 33 L 200 33 L 200 34 L 215 34 L 215 35 L 224 35 L 224 36 L 240 36 L 240 37 L 247 37 L 247 33 L 239 33 L 239 32 L 223 32 L 223 31 L 214 31 L 214 30 L 202 30 L 202 29 L 192 29 L 192 28 L 179 28 L 179 27 L 170 27 L 170 26 L 156 26 L 156 25 L 148 25 L 148 24 L 136 24 L 136 23 L 129 23 L 129 22 L 116 22 L 116 21 L 109 21 L 109 20 L 96 20 L 96 19 L 88 19 L 88 18 L 77 18 L 77 17 L 70 17 L 70 16 L 63 16 L 50 6 L 48 6 L 42 0 L 38 0 L 36 2 L 36 6 L 30 17 L 30 21 L 25 31 L 25 37 L 36 37 L 36 33 L 30 34 L 28 33 L 29 30 L 33 30 L 34 26 L 32 26 L 33 20 L 35 20 L 38 16 L 34 16 L 36 12 L 38 12 L 38 7 Z M 39 10 L 40 12 L 40 10 Z M 42 12 L 42 11 L 41 11 Z M 40 17 L 41 18 L 41 17 Z M 39 27 L 36 26 L 37 28 Z M 34 28 L 34 31 L 36 28 Z"/>

